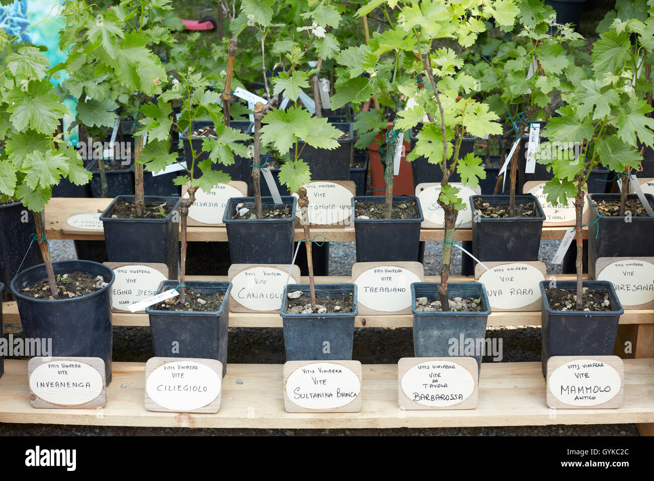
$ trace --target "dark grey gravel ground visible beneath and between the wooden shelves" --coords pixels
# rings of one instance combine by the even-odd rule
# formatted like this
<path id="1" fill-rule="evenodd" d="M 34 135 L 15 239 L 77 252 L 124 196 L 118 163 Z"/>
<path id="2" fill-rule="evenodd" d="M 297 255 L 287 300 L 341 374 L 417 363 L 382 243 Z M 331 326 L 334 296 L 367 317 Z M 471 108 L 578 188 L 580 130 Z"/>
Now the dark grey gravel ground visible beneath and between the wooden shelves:
<path id="1" fill-rule="evenodd" d="M 559 241 L 542 241 L 540 260 L 548 274 L 560 273 L 560 266 L 549 264 Z M 427 242 L 424 268 L 426 275 L 438 274 L 440 242 Z M 76 258 L 72 241 L 50 241 L 53 260 Z M 354 263 L 354 242 L 337 242 L 330 249 L 330 274 L 349 276 Z M 461 253 L 453 254 L 452 272 L 460 274 Z M 22 334 L 20 325 L 6 325 L 7 334 Z M 540 328 L 510 327 L 487 330 L 488 338 L 502 339 L 502 361 L 540 361 Z M 148 327 L 114 327 L 114 360 L 145 362 L 152 357 Z M 413 355 L 413 338 L 409 328 L 357 328 L 354 331 L 353 359 L 364 364 L 397 363 Z M 284 363 L 284 338 L 281 329 L 230 329 L 229 363 Z M 484 362 L 492 362 L 489 356 Z M 151 427 L 95 427 L 73 425 L 0 423 L 0 435 L 233 435 L 233 436 L 316 436 L 316 435 L 403 435 L 403 436 L 637 436 L 634 424 L 621 425 L 551 425 L 519 427 L 429 428 L 429 429 L 169 429 Z"/>

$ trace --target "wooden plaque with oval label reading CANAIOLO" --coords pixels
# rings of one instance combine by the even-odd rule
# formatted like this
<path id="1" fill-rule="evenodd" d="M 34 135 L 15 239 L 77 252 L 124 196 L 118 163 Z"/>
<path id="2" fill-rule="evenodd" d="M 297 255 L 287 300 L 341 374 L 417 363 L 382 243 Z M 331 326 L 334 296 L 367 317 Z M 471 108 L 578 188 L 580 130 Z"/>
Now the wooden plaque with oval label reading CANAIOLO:
<path id="1" fill-rule="evenodd" d="M 279 313 L 286 279 L 300 283 L 300 268 L 290 264 L 232 264 L 227 275 L 232 283 L 231 312 Z"/>

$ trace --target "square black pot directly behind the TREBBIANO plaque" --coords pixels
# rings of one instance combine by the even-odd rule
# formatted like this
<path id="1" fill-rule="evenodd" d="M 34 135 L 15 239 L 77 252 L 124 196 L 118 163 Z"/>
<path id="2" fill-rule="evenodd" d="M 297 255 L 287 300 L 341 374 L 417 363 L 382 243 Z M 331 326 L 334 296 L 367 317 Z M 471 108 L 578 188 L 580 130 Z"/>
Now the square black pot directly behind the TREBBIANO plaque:
<path id="1" fill-rule="evenodd" d="M 353 212 L 356 211 L 354 206 L 358 201 L 384 204 L 385 198 L 382 196 L 353 197 Z M 393 196 L 393 203 L 395 202 L 415 202 L 418 206 L 418 217 L 416 219 L 354 218 L 356 262 L 417 260 L 420 226 L 424 220 L 420 200 L 414 196 Z"/>

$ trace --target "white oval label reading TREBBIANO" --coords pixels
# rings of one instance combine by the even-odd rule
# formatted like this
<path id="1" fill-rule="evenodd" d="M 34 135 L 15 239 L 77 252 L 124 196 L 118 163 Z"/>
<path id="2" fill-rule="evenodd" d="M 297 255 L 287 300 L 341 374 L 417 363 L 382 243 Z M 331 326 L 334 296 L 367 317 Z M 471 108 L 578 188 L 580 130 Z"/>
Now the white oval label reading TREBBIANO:
<path id="1" fill-rule="evenodd" d="M 408 269 L 379 266 L 362 272 L 354 283 L 358 302 L 379 312 L 395 312 L 411 307 L 411 283 L 420 282 Z"/>

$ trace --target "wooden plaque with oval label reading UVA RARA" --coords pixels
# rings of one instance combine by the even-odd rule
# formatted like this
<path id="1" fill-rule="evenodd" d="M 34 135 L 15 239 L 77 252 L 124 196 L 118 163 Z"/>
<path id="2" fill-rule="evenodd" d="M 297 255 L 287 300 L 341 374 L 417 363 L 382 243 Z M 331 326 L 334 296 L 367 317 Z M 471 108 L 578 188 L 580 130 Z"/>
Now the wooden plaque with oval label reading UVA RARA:
<path id="1" fill-rule="evenodd" d="M 540 311 L 538 283 L 545 280 L 547 267 L 543 262 L 484 262 L 475 266 L 475 280 L 486 287 L 493 312 Z M 495 275 L 493 275 L 493 273 Z"/>

